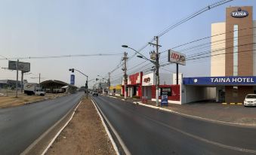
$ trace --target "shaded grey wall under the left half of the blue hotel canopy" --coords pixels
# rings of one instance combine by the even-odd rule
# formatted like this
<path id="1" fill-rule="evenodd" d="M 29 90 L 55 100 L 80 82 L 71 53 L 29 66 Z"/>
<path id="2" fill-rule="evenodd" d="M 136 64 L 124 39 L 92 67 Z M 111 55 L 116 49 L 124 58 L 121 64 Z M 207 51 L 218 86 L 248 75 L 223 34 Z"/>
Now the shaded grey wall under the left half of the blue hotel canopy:
<path id="1" fill-rule="evenodd" d="M 184 86 L 183 103 L 198 102 L 216 98 L 215 87 Z"/>

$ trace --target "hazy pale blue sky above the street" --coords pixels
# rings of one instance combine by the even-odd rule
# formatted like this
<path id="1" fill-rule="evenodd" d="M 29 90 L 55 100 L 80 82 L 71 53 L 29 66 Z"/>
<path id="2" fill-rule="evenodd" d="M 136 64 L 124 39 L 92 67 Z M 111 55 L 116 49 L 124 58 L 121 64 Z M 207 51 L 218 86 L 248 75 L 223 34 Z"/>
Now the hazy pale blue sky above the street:
<path id="1" fill-rule="evenodd" d="M 128 52 L 128 74 L 148 68 L 147 62 L 136 56 L 132 50 L 122 48 L 127 44 L 139 50 L 153 36 L 177 23 L 184 17 L 199 11 L 219 0 L 0 0 L 0 59 L 28 56 L 63 56 L 76 54 L 115 54 L 112 56 L 80 56 L 51 59 L 20 59 L 30 62 L 31 74 L 24 79 L 38 82 L 60 80 L 69 83 L 69 68 L 76 68 L 87 74 L 89 80 L 108 78 Z M 253 6 L 254 0 L 234 0 L 217 8 L 212 8 L 198 17 L 171 29 L 159 38 L 165 51 L 180 44 L 211 35 L 211 23 L 225 21 L 225 8 L 229 6 Z M 255 11 L 253 14 L 255 17 Z M 254 18 L 255 19 L 255 18 Z M 207 40 L 209 41 L 209 40 Z M 207 42 L 206 41 L 206 42 Z M 199 42 L 196 44 L 200 44 Z M 194 44 L 194 45 L 196 45 Z M 188 45 L 187 47 L 190 47 Z M 185 47 L 183 47 L 185 48 Z M 177 49 L 182 50 L 183 48 Z M 150 56 L 153 47 L 141 51 Z M 196 51 L 194 51 L 196 53 Z M 161 55 L 168 59 L 167 53 Z M 142 65 L 140 63 L 144 62 Z M 143 65 L 144 68 L 142 68 Z M 8 60 L 0 60 L 0 80 L 16 79 L 16 71 L 5 70 Z M 166 65 L 162 72 L 175 71 L 174 65 Z M 119 84 L 122 68 L 111 74 L 112 83 Z M 168 71 L 166 71 L 168 70 Z M 209 59 L 187 62 L 180 66 L 185 77 L 209 76 Z M 86 78 L 76 74 L 76 86 L 85 85 Z M 89 86 L 94 81 L 89 83 Z"/>

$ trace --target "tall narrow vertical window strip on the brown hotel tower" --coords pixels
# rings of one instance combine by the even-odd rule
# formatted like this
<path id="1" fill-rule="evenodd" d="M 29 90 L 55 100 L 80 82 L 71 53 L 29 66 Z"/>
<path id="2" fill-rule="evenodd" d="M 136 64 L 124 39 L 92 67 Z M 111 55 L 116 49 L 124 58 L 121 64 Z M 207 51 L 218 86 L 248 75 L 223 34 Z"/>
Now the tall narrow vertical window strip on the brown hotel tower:
<path id="1" fill-rule="evenodd" d="M 238 25 L 233 29 L 233 76 L 238 75 Z"/>

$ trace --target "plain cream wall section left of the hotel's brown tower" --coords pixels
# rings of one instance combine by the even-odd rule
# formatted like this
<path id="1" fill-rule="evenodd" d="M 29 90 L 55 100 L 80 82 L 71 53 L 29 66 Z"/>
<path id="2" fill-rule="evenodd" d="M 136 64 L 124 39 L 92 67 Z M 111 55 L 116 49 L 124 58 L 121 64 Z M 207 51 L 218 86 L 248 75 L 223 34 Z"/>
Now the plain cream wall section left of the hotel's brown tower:
<path id="1" fill-rule="evenodd" d="M 225 32 L 226 23 L 211 24 L 211 35 L 217 35 Z M 211 37 L 211 77 L 225 76 L 225 39 L 225 34 Z"/>

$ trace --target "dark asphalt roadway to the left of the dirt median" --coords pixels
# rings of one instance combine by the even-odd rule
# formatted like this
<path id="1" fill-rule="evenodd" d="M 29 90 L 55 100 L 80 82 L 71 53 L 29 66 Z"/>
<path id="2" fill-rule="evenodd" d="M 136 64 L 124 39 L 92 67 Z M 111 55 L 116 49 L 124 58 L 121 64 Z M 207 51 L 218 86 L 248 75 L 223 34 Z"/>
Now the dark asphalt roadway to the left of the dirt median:
<path id="1" fill-rule="evenodd" d="M 0 109 L 0 154 L 20 154 L 74 107 L 83 93 Z"/>

